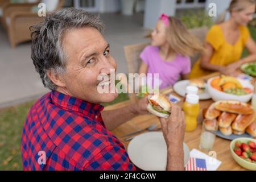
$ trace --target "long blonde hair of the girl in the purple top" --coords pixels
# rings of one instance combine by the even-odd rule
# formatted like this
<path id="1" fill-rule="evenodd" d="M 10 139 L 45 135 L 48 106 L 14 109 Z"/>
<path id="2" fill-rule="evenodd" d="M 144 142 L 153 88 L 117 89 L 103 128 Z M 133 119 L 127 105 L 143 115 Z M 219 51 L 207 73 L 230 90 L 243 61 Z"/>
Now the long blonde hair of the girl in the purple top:
<path id="1" fill-rule="evenodd" d="M 170 46 L 170 51 L 180 53 L 183 56 L 193 56 L 197 52 L 205 52 L 203 43 L 188 32 L 180 19 L 170 17 L 169 22 L 167 42 Z"/>

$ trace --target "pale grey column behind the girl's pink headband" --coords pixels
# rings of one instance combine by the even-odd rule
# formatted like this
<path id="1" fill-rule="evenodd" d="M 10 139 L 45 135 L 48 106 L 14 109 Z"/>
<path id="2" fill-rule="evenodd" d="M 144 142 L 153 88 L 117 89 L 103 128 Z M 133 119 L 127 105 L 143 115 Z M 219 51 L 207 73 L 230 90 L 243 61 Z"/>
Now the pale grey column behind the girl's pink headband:
<path id="1" fill-rule="evenodd" d="M 154 28 L 160 14 L 175 15 L 176 0 L 146 0 L 144 12 L 144 28 Z"/>

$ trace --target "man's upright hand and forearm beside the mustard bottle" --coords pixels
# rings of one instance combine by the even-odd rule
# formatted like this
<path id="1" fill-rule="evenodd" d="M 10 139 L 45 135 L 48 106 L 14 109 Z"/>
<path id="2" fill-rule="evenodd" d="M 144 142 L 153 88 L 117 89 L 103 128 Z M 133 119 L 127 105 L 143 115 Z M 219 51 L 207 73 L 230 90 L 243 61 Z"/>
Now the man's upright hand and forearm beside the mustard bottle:
<path id="1" fill-rule="evenodd" d="M 172 105 L 169 118 L 160 118 L 164 139 L 167 144 L 167 170 L 184 170 L 183 141 L 185 134 L 184 113 Z"/>

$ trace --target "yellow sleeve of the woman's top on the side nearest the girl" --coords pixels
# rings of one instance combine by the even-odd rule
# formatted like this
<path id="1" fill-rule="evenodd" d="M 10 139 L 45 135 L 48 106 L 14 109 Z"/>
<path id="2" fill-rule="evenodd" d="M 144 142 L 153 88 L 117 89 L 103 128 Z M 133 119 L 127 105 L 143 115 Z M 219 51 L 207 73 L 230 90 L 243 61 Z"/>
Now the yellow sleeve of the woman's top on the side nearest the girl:
<path id="1" fill-rule="evenodd" d="M 217 50 L 223 42 L 221 34 L 221 28 L 215 25 L 210 28 L 206 36 L 207 43 L 209 43 L 215 50 Z"/>

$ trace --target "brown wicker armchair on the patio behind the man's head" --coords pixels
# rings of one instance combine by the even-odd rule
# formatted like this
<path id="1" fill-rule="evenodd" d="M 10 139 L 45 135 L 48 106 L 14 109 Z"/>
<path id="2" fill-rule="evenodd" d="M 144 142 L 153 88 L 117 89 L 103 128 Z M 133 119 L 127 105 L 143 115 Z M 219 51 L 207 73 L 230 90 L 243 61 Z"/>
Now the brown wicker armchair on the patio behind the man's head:
<path id="1" fill-rule="evenodd" d="M 3 7 L 3 26 L 6 27 L 12 48 L 17 44 L 31 40 L 29 27 L 43 21 L 31 8 L 37 3 L 10 4 Z M 64 0 L 59 0 L 55 10 L 64 5 Z M 7 20 L 7 22 L 6 22 Z"/>

